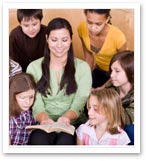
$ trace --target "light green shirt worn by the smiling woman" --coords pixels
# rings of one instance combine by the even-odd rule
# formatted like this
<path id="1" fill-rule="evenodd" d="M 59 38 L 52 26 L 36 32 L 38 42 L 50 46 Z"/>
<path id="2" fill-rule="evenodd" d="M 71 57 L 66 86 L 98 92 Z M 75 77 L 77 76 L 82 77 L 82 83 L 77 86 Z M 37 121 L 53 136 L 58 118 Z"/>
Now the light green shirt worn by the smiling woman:
<path id="1" fill-rule="evenodd" d="M 36 83 L 42 76 L 41 64 L 43 59 L 44 57 L 33 61 L 27 68 L 27 73 L 30 73 L 34 77 Z M 55 71 L 50 70 L 51 95 L 48 94 L 44 97 L 37 92 L 36 99 L 32 107 L 34 117 L 36 117 L 36 115 L 40 112 L 46 112 L 50 118 L 56 121 L 66 111 L 73 110 L 76 112 L 78 118 L 72 123 L 81 122 L 83 115 L 85 116 L 84 106 L 90 93 L 92 76 L 91 70 L 85 61 L 78 58 L 75 58 L 74 61 L 76 69 L 75 79 L 77 82 L 76 93 L 68 96 L 65 94 L 65 88 L 59 91 Z M 60 79 L 63 72 L 64 71 L 62 70 Z"/>

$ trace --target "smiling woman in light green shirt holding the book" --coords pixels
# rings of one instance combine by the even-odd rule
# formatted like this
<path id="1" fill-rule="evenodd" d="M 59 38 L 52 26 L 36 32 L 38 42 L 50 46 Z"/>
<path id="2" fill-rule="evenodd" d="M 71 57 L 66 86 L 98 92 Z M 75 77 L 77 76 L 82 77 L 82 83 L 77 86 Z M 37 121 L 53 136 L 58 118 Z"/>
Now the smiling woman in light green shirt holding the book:
<path id="1" fill-rule="evenodd" d="M 63 18 L 48 23 L 44 57 L 27 68 L 37 83 L 33 115 L 40 124 L 53 122 L 78 125 L 86 121 L 84 105 L 89 96 L 92 77 L 89 65 L 74 57 L 72 28 Z M 74 145 L 75 134 L 47 133 L 33 130 L 31 145 Z"/>

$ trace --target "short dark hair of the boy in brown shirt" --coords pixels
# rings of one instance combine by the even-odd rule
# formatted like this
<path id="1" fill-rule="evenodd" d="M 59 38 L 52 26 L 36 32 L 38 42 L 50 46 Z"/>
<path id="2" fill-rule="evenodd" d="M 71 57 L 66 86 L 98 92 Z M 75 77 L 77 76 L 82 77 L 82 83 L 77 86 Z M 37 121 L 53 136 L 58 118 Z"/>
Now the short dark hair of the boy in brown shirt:
<path id="1" fill-rule="evenodd" d="M 42 9 L 18 9 L 17 10 L 17 20 L 21 23 L 22 19 L 29 21 L 31 18 L 39 19 L 43 18 Z"/>

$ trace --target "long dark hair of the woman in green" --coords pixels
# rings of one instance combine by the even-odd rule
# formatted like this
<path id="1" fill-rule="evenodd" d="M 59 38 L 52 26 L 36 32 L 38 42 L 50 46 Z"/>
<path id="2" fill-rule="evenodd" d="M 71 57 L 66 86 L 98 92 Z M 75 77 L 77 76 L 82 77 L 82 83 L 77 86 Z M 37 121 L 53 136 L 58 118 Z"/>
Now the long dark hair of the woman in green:
<path id="1" fill-rule="evenodd" d="M 52 30 L 66 28 L 72 39 L 72 27 L 70 23 L 63 18 L 54 18 L 48 23 L 46 35 L 49 37 L 49 34 Z M 50 49 L 48 48 L 48 44 L 46 42 L 45 50 L 44 50 L 44 60 L 42 62 L 42 77 L 37 83 L 37 91 L 39 91 L 42 95 L 46 96 L 46 94 L 51 94 L 50 87 Z M 70 45 L 67 57 L 67 63 L 65 65 L 64 73 L 60 83 L 60 90 L 66 86 L 66 94 L 70 95 L 77 90 L 77 83 L 75 80 L 75 65 L 74 65 L 74 54 L 72 43 Z"/>

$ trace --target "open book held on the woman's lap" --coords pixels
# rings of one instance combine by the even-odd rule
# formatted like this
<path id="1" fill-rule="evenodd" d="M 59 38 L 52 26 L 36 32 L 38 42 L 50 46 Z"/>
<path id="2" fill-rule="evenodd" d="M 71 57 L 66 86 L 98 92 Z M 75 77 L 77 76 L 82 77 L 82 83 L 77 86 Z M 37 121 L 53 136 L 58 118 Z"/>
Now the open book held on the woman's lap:
<path id="1" fill-rule="evenodd" d="M 54 131 L 63 131 L 68 134 L 73 135 L 75 131 L 75 127 L 72 125 L 67 126 L 64 123 L 54 122 L 52 124 L 43 124 L 43 125 L 30 125 L 26 126 L 26 129 L 34 130 L 40 129 L 44 130 L 47 133 L 54 132 Z"/>

